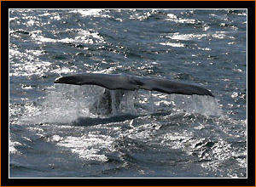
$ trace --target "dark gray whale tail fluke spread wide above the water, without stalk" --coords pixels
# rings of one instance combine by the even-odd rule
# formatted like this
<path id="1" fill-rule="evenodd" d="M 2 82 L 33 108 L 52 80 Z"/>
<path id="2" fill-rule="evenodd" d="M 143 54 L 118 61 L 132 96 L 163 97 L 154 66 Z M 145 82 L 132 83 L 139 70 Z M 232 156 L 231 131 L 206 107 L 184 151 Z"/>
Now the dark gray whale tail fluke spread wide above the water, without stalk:
<path id="1" fill-rule="evenodd" d="M 146 89 L 158 91 L 165 94 L 187 94 L 187 95 L 210 95 L 213 94 L 206 88 L 201 88 L 192 84 L 175 82 L 162 78 L 125 76 L 119 74 L 99 74 L 86 73 L 67 77 L 59 77 L 55 83 L 75 84 L 75 85 L 98 85 L 110 90 L 125 89 L 136 90 Z"/>

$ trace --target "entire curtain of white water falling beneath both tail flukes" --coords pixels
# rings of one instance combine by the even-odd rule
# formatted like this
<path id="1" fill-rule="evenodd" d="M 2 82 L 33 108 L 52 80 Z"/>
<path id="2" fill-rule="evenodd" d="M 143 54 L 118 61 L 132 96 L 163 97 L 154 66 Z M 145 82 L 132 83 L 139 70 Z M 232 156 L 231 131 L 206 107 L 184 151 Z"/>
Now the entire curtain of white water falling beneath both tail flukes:
<path id="1" fill-rule="evenodd" d="M 32 122 L 75 122 L 78 118 L 108 118 L 120 115 L 150 115 L 157 112 L 189 112 L 222 116 L 218 101 L 209 96 L 160 94 L 151 91 L 110 90 L 110 102 L 102 98 L 104 88 L 58 84 L 49 89 Z M 120 96 L 120 97 L 119 97 Z M 104 103 L 102 103 L 104 102 Z M 110 112 L 104 108 L 108 104 Z M 34 110 L 35 111 L 35 110 Z"/>

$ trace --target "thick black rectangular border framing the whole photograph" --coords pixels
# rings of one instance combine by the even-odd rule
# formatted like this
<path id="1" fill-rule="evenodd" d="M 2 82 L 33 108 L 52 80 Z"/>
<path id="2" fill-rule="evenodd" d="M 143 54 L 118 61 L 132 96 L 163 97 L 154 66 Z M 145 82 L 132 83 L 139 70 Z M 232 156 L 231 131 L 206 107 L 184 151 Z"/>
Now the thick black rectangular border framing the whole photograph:
<path id="1" fill-rule="evenodd" d="M 9 8 L 247 8 L 248 161 L 247 178 L 9 178 L 8 99 Z M 255 186 L 255 2 L 254 1 L 2 1 L 1 2 L 1 186 Z M 249 86 L 250 85 L 250 86 Z M 250 94 L 249 94 L 250 92 Z M 253 102 L 254 101 L 254 102 Z M 254 106 L 254 107 L 253 107 Z M 251 110 L 251 109 L 254 110 Z M 7 121 L 7 122 L 6 122 Z"/>

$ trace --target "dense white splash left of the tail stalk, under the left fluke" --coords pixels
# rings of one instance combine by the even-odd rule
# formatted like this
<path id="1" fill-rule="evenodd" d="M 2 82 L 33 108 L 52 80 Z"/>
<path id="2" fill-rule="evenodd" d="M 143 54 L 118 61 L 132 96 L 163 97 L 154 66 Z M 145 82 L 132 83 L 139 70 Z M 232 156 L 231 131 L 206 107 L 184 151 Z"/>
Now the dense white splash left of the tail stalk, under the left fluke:
<path id="1" fill-rule="evenodd" d="M 96 95 L 99 88 L 87 89 L 91 95 L 86 94 L 88 92 L 84 88 L 73 85 L 55 85 L 55 87 L 49 88 L 42 103 L 35 106 L 38 111 L 29 118 L 29 121 L 33 123 L 70 123 L 79 116 L 94 117 L 89 111 L 89 105 L 91 97 Z"/>

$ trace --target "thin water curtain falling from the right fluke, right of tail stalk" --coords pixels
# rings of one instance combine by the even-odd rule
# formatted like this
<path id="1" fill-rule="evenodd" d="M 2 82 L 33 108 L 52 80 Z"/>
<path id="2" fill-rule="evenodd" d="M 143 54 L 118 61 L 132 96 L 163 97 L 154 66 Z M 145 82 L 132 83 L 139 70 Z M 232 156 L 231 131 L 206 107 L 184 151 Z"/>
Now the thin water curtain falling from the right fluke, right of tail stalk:
<path id="1" fill-rule="evenodd" d="M 141 91 L 139 91 L 141 92 Z M 146 114 L 156 112 L 194 113 L 203 116 L 223 116 L 218 99 L 211 96 L 162 94 L 154 91 L 141 92 L 137 101 Z"/>

